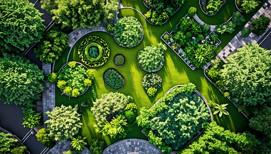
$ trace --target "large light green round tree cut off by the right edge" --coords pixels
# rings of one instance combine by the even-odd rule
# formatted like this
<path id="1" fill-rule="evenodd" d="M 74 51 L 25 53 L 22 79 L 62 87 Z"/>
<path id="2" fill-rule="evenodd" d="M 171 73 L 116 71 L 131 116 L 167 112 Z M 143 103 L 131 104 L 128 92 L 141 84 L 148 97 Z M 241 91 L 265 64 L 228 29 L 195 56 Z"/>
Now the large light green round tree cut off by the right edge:
<path id="1" fill-rule="evenodd" d="M 226 59 L 221 77 L 236 105 L 258 105 L 271 101 L 271 50 L 249 43 Z"/>

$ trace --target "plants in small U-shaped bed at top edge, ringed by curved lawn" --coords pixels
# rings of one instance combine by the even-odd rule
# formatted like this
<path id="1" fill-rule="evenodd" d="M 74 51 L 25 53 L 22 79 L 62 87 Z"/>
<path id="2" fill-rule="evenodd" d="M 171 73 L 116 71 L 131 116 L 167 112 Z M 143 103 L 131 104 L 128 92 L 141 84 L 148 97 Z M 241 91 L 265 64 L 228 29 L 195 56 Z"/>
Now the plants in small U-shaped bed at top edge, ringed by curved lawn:
<path id="1" fill-rule="evenodd" d="M 200 0 L 201 8 L 208 15 L 216 13 L 222 4 L 222 0 Z"/>

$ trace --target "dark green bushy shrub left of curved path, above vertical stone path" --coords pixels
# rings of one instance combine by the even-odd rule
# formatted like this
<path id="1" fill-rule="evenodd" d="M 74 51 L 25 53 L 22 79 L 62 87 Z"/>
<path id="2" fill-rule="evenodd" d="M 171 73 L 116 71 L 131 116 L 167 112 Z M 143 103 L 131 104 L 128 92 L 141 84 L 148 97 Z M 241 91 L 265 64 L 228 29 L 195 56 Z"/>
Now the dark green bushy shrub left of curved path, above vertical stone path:
<path id="1" fill-rule="evenodd" d="M 48 31 L 43 36 L 42 42 L 34 49 L 36 57 L 45 63 L 53 63 L 68 46 L 69 37 L 61 31 Z"/>

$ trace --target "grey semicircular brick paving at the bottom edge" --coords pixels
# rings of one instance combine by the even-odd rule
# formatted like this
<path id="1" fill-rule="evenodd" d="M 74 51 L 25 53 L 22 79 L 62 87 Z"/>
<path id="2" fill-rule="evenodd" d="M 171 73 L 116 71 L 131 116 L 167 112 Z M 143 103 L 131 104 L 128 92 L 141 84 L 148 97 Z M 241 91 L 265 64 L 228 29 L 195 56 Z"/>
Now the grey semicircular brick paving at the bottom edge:
<path id="1" fill-rule="evenodd" d="M 148 141 L 142 139 L 126 139 L 111 144 L 102 154 L 163 154 L 162 151 Z"/>

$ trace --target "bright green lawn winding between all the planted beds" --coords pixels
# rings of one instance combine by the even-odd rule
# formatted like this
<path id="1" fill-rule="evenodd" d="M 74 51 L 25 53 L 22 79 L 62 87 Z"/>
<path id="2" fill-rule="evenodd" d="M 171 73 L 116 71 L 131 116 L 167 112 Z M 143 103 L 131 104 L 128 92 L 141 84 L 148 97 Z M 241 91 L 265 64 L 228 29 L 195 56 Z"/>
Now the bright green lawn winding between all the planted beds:
<path id="1" fill-rule="evenodd" d="M 231 2 L 233 2 L 231 4 Z M 229 5 L 227 5 L 229 4 Z M 124 6 L 135 7 L 145 13 L 148 9 L 144 6 L 142 1 L 123 1 Z M 81 62 L 78 57 L 78 46 L 81 41 L 88 37 L 88 36 L 99 36 L 104 39 L 110 48 L 110 57 L 108 61 L 101 67 L 95 67 L 96 77 L 94 79 L 93 85 L 94 90 L 96 93 L 97 98 L 101 98 L 103 93 L 109 92 L 120 92 L 125 95 L 130 95 L 134 98 L 134 102 L 137 104 L 138 108 L 142 108 L 145 106 L 146 108 L 150 108 L 160 97 L 164 96 L 164 93 L 167 92 L 171 87 L 178 85 L 178 84 L 185 84 L 192 82 L 196 85 L 196 88 L 202 95 L 207 99 L 214 99 L 218 103 L 229 103 L 227 106 L 227 111 L 229 112 L 229 116 L 222 116 L 221 118 L 217 115 L 214 115 L 214 120 L 220 125 L 223 126 L 225 129 L 230 129 L 233 132 L 242 132 L 248 126 L 248 120 L 241 114 L 238 113 L 237 108 L 223 95 L 220 91 L 211 84 L 207 78 L 205 78 L 202 69 L 196 69 L 192 71 L 169 47 L 165 54 L 165 62 L 164 67 L 156 72 L 162 78 L 162 87 L 157 90 L 157 94 L 154 97 L 148 97 L 146 91 L 142 87 L 142 78 L 147 72 L 142 70 L 139 67 L 137 61 L 137 54 L 140 50 L 142 50 L 145 46 L 156 46 L 159 42 L 162 42 L 160 36 L 165 31 L 172 31 L 174 26 L 177 24 L 178 20 L 187 13 L 188 7 L 197 7 L 198 8 L 198 15 L 202 18 L 203 21 L 207 22 L 206 20 L 210 20 L 216 23 L 222 23 L 223 21 L 227 20 L 226 18 L 220 18 L 220 16 L 229 17 L 227 14 L 232 14 L 232 11 L 235 11 L 235 5 L 233 0 L 228 0 L 226 4 L 222 7 L 223 11 L 218 12 L 215 16 L 209 17 L 204 15 L 201 10 L 199 9 L 198 1 L 197 0 L 186 0 L 185 4 L 181 7 L 181 9 L 174 15 L 167 23 L 163 26 L 155 26 L 151 25 L 145 21 L 145 19 L 135 10 L 132 9 L 122 9 L 120 10 L 119 17 L 121 16 L 134 16 L 139 19 L 139 22 L 142 24 L 144 29 L 144 37 L 142 42 L 133 48 L 124 48 L 119 46 L 112 35 L 105 33 L 105 32 L 92 32 L 83 36 L 79 41 L 73 46 L 71 49 L 70 56 L 68 57 L 68 61 L 78 61 Z M 234 7 L 234 8 L 233 8 Z M 233 9 L 233 10 L 232 10 Z M 224 15 L 223 15 L 224 14 Z M 246 16 L 246 19 L 250 19 L 253 13 Z M 215 20 L 213 20 L 213 18 Z M 220 19 L 220 20 L 216 20 Z M 233 34 L 223 34 L 220 36 L 222 43 L 220 45 L 220 50 L 223 48 L 231 39 L 234 37 L 237 32 L 241 29 L 236 28 Z M 61 58 L 56 61 L 54 72 L 57 72 L 60 67 L 66 63 L 68 52 L 70 48 L 67 48 Z M 219 51 L 218 51 L 219 52 Z M 116 67 L 113 63 L 114 55 L 121 53 L 126 58 L 126 63 L 123 67 Z M 115 68 L 120 72 L 125 78 L 125 86 L 121 90 L 113 90 L 110 87 L 107 87 L 103 80 L 102 75 L 104 71 L 108 68 Z M 82 96 L 68 97 L 66 95 L 61 95 L 61 91 L 56 88 L 56 106 L 60 106 L 61 104 L 64 105 L 75 105 L 77 102 L 81 102 L 83 100 L 91 100 L 90 107 L 93 106 L 92 101 L 94 100 L 93 93 L 91 88 L 83 94 Z M 81 122 L 83 123 L 82 129 L 80 129 L 80 134 L 83 136 L 87 136 L 87 143 L 91 142 L 92 138 L 100 138 L 106 141 L 107 145 L 113 144 L 116 141 L 120 141 L 123 138 L 113 138 L 111 139 L 109 136 L 102 136 L 95 131 L 95 127 L 93 127 L 96 122 L 95 118 L 90 111 L 90 107 L 83 112 L 81 116 Z M 214 112 L 214 109 L 212 109 Z M 147 138 L 140 132 L 142 128 L 134 126 L 134 131 L 128 133 L 126 138 L 140 138 L 145 139 Z"/>

